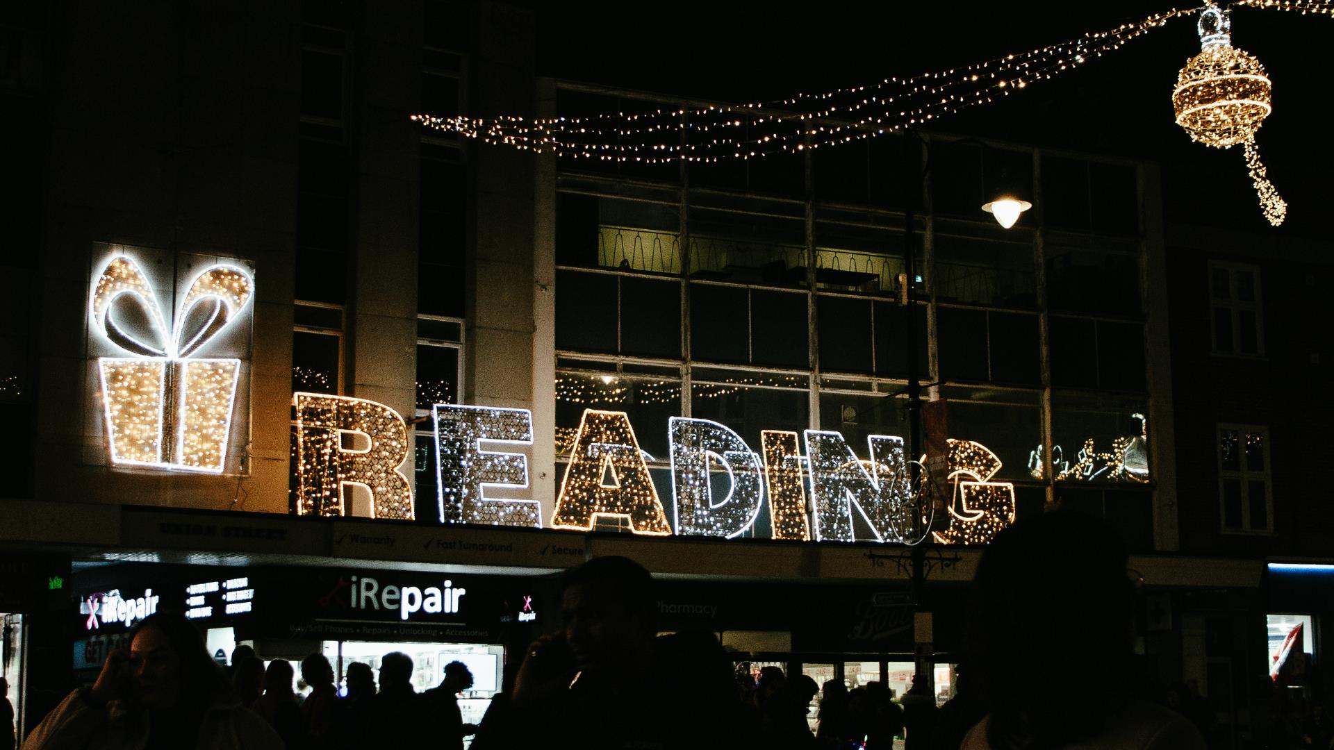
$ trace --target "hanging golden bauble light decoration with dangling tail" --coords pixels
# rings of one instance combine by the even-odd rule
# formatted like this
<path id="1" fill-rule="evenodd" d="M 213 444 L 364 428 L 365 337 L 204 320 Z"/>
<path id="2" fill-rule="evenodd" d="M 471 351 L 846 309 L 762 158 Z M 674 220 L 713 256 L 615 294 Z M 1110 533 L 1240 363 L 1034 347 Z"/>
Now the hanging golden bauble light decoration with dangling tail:
<path id="1" fill-rule="evenodd" d="M 1201 12 L 1202 49 L 1177 73 L 1171 103 L 1177 124 L 1193 140 L 1215 148 L 1243 145 L 1265 218 L 1277 227 L 1287 215 L 1287 204 L 1266 177 L 1255 147 L 1255 131 L 1273 109 L 1271 84 L 1259 60 L 1233 47 L 1230 27 L 1227 12 L 1218 5 Z"/>

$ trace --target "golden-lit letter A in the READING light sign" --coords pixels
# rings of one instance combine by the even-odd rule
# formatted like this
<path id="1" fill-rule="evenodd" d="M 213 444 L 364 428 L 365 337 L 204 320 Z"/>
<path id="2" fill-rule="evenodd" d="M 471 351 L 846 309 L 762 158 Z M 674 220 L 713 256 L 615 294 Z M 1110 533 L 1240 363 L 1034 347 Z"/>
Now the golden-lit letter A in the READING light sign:
<path id="1" fill-rule="evenodd" d="M 579 420 L 551 526 L 591 531 L 598 516 L 627 518 L 635 534 L 671 534 L 630 418 L 588 408 Z"/>

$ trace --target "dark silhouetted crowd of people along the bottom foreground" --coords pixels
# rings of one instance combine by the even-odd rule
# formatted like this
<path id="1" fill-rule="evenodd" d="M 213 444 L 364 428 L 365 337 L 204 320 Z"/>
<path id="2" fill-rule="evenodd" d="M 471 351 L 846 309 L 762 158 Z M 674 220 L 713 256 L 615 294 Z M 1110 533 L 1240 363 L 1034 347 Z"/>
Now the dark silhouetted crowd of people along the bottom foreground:
<path id="1" fill-rule="evenodd" d="M 92 687 L 71 693 L 24 750 L 474 750 L 763 749 L 1201 750 L 1214 713 L 1198 687 L 1138 699 L 1130 674 L 1134 578 L 1106 523 L 1066 511 L 1022 519 L 978 563 L 968 653 L 954 697 L 930 685 L 895 695 L 882 682 L 823 686 L 776 666 L 736 666 L 712 633 L 660 635 L 652 578 L 619 556 L 568 571 L 563 629 L 510 659 L 484 717 L 464 723 L 462 662 L 416 693 L 412 659 L 346 669 L 346 695 L 323 655 L 296 667 L 239 647 L 219 667 L 179 615 L 135 626 Z M 818 703 L 815 698 L 819 697 Z M 816 705 L 816 715 L 811 706 Z M 814 719 L 814 721 L 812 721 Z M 814 729 L 814 730 L 812 730 Z M 1319 707 L 1275 717 L 1274 750 L 1330 750 Z"/>

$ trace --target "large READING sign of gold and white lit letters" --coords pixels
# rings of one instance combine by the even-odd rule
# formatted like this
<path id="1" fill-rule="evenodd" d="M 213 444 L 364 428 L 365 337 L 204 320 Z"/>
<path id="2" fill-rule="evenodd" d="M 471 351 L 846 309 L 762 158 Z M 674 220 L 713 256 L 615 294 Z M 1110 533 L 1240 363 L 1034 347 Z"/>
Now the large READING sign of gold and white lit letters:
<path id="1" fill-rule="evenodd" d="M 400 468 L 408 458 L 408 432 L 399 412 L 350 396 L 297 392 L 293 400 L 296 512 L 351 515 L 347 487 L 359 486 L 370 491 L 372 518 L 414 518 L 412 484 Z M 532 446 L 528 410 L 436 404 L 432 422 L 442 523 L 547 526 L 538 500 L 506 496 L 507 490 L 528 486 L 527 456 L 495 450 Z M 635 534 L 734 538 L 755 524 L 767 502 L 774 539 L 850 542 L 855 512 L 874 540 L 922 540 L 912 538 L 912 528 L 922 524 L 914 523 L 899 436 L 871 435 L 870 458 L 860 459 L 842 434 L 823 430 L 766 430 L 760 452 L 707 419 L 671 418 L 667 431 L 675 527 L 628 415 L 591 408 L 566 456 L 550 526 L 592 530 L 599 518 L 622 518 Z M 940 543 L 986 543 L 1014 520 L 1014 486 L 991 480 L 1000 460 L 986 446 L 948 444 L 947 479 L 955 498 L 948 527 L 931 534 Z M 812 518 L 808 504 L 815 508 Z"/>

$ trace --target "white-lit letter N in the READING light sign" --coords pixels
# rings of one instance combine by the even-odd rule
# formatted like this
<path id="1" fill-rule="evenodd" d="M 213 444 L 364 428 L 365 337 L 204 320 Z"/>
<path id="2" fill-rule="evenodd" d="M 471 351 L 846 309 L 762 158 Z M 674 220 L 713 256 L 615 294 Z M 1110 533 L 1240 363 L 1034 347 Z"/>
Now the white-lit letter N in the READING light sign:
<path id="1" fill-rule="evenodd" d="M 852 508 L 878 542 L 908 542 L 912 528 L 911 488 L 903 438 L 870 435 L 871 471 L 838 432 L 806 431 L 815 499 L 815 539 L 852 542 Z"/>

